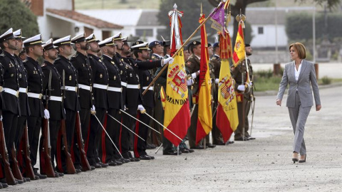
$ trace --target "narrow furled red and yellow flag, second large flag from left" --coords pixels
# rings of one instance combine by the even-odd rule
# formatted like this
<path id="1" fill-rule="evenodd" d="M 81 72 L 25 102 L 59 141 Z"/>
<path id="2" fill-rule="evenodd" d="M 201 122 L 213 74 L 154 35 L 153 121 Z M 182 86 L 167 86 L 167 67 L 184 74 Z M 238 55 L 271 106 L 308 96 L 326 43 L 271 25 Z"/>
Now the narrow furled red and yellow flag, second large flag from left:
<path id="1" fill-rule="evenodd" d="M 205 16 L 201 15 L 199 23 L 204 22 Z M 209 56 L 207 51 L 207 33 L 205 25 L 201 27 L 201 62 L 199 67 L 199 94 L 198 94 L 198 119 L 196 144 L 212 130 L 212 82 L 209 77 Z"/>

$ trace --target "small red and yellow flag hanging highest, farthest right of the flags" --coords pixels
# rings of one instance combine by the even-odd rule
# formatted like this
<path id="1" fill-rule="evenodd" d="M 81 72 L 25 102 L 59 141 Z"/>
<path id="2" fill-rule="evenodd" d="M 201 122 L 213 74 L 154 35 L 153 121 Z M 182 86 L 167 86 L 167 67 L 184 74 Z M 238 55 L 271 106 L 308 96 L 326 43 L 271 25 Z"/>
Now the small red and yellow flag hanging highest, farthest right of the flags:
<path id="1" fill-rule="evenodd" d="M 246 50 L 244 49 L 244 30 L 242 28 L 244 21 L 239 22 L 239 30 L 237 31 L 237 40 L 235 41 L 233 64 L 234 67 L 240 64 L 246 57 Z"/>

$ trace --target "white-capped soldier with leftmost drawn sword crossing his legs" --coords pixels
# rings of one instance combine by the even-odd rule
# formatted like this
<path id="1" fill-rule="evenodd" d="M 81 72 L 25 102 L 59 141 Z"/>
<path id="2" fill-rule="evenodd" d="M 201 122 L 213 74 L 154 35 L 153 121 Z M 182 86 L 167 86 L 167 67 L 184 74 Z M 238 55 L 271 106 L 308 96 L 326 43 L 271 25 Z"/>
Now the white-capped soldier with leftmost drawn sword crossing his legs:
<path id="1" fill-rule="evenodd" d="M 114 37 L 106 38 L 100 41 L 98 45 L 101 48 L 102 60 L 108 70 L 108 116 L 106 117 L 106 132 L 110 135 L 110 138 L 103 131 L 104 139 L 101 137 L 101 147 L 99 148 L 99 156 L 103 162 L 109 164 L 109 166 L 122 165 L 121 161 L 115 160 L 115 154 L 118 154 L 117 149 L 119 146 L 120 137 L 120 122 L 121 112 L 123 110 L 123 97 L 121 95 L 122 87 L 120 80 L 120 70 L 117 65 L 113 62 L 113 57 L 116 53 L 116 44 L 114 43 Z M 115 118 L 115 119 L 113 119 Z M 114 142 L 115 146 L 113 146 Z"/>

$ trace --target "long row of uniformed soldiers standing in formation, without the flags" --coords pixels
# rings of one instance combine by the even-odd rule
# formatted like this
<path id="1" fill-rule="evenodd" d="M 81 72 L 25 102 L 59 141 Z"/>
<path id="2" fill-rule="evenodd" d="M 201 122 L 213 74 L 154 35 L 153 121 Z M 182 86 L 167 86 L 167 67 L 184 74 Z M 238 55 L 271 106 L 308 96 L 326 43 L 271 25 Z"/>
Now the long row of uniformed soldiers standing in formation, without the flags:
<path id="1" fill-rule="evenodd" d="M 40 34 L 25 38 L 20 29 L 12 28 L 0 36 L 0 186 L 155 159 L 146 150 L 160 145 L 163 155 L 179 155 L 234 143 L 232 139 L 223 142 L 215 126 L 212 139 L 208 134 L 195 142 L 198 105 L 192 95 L 198 94 L 201 42 L 192 41 L 184 48 L 192 120 L 177 151 L 150 118 L 163 122 L 159 95 L 166 86 L 167 71 L 148 87 L 160 69 L 173 62 L 170 41 L 136 41 L 130 46 L 127 40 L 121 33 L 103 41 L 80 33 L 43 43 Z M 210 80 L 216 85 L 211 91 L 214 117 L 221 59 L 219 43 L 207 46 Z M 252 55 L 249 45 L 246 50 Z M 42 64 L 38 58 L 43 58 Z M 244 97 L 238 102 L 236 141 L 255 139 L 248 133 L 247 118 L 254 99 L 252 86 L 246 93 L 239 87 L 246 80 L 247 67 L 252 79 L 249 60 L 231 69 L 238 82 L 237 95 Z"/>

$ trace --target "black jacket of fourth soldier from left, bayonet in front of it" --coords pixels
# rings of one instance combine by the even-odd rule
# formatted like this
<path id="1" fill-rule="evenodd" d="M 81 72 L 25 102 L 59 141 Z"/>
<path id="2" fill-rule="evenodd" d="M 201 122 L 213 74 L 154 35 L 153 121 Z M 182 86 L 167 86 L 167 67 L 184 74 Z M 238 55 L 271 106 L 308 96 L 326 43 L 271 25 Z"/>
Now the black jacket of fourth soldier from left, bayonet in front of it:
<path id="1" fill-rule="evenodd" d="M 62 90 L 61 90 L 62 77 L 58 73 L 58 70 L 55 68 L 55 66 L 52 63 L 45 60 L 41 69 L 43 70 L 43 73 L 44 73 L 43 92 L 45 92 L 45 95 L 63 97 Z M 51 71 L 51 90 L 48 90 L 48 78 L 50 75 L 50 71 Z M 44 100 L 44 105 L 46 107 L 46 100 Z M 51 120 L 66 119 L 66 114 L 64 113 L 63 102 L 58 102 L 56 100 L 48 100 L 48 112 L 50 112 Z"/>

